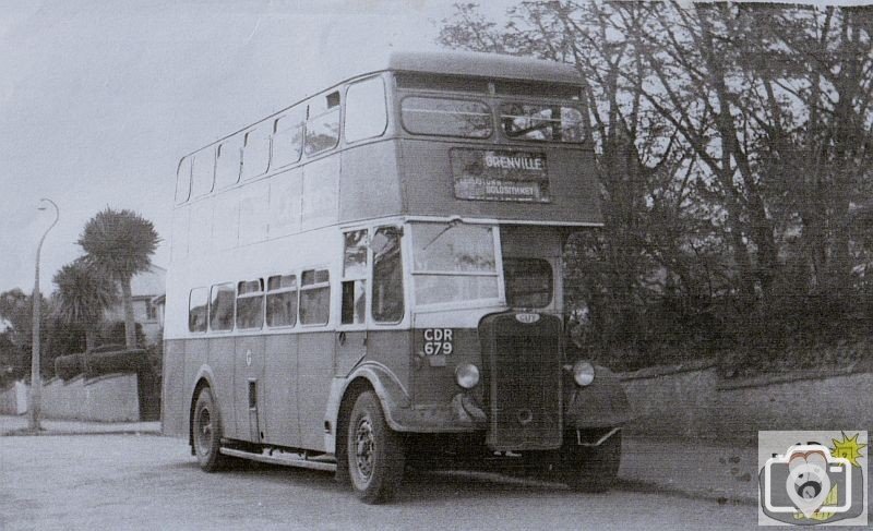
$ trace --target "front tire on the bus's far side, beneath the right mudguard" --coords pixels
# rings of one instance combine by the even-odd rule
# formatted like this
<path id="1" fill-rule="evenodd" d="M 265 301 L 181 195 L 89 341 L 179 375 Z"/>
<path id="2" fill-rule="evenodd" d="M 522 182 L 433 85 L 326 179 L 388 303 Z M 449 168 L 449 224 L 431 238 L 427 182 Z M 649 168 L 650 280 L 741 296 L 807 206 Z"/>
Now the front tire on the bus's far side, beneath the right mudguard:
<path id="1" fill-rule="evenodd" d="M 569 487 L 578 492 L 601 493 L 615 483 L 621 463 L 621 432 L 600 446 L 579 446 L 576 433 L 564 435 L 561 447 L 561 475 Z"/>

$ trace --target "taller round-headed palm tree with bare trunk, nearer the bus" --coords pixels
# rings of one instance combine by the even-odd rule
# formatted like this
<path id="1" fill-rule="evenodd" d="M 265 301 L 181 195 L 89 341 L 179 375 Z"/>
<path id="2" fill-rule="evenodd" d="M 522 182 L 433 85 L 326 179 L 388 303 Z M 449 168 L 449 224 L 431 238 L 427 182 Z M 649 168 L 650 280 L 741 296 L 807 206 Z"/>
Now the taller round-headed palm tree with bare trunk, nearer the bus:
<path id="1" fill-rule="evenodd" d="M 148 269 L 159 241 L 152 221 L 132 210 L 113 210 L 109 207 L 91 218 L 79 237 L 88 265 L 104 271 L 121 286 L 124 340 L 129 349 L 136 347 L 130 280 Z"/>

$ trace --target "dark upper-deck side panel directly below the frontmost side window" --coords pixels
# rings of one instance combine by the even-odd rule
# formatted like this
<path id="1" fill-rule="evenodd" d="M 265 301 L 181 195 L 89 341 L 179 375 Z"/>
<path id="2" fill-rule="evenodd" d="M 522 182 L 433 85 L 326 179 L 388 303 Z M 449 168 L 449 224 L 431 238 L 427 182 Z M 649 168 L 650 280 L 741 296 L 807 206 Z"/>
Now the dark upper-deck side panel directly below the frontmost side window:
<path id="1" fill-rule="evenodd" d="M 373 190 L 379 190 L 378 194 Z M 367 201 L 361 201 L 367 197 Z M 397 143 L 378 142 L 343 152 L 339 220 L 350 221 L 400 212 Z"/>

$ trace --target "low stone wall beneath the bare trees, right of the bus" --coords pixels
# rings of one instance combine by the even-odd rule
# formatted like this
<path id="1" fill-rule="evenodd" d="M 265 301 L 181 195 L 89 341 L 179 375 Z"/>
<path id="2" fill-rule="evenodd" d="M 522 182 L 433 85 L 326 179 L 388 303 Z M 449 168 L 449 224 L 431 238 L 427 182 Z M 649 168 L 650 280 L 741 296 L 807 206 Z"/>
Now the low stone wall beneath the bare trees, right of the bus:
<path id="1" fill-rule="evenodd" d="M 713 362 L 620 375 L 637 436 L 754 443 L 762 430 L 871 430 L 873 371 L 848 367 L 721 379 Z"/>

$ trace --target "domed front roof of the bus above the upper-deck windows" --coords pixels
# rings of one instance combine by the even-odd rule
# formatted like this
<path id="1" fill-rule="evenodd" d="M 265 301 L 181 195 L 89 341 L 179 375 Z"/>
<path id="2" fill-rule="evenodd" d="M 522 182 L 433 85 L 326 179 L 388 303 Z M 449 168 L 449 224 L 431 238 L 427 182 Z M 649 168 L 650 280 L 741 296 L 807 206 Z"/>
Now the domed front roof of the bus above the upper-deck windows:
<path id="1" fill-rule="evenodd" d="M 570 64 L 471 51 L 393 51 L 384 70 L 583 84 Z"/>

